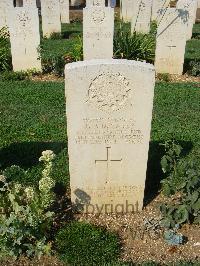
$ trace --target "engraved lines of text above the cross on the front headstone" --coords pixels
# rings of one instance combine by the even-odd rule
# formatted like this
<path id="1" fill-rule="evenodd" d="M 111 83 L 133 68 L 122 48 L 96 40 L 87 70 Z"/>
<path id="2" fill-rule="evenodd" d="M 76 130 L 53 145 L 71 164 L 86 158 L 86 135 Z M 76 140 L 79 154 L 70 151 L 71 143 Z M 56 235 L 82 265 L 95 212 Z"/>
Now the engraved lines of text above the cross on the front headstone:
<path id="1" fill-rule="evenodd" d="M 143 134 L 133 119 L 84 119 L 83 129 L 77 132 L 77 144 L 141 144 Z"/>

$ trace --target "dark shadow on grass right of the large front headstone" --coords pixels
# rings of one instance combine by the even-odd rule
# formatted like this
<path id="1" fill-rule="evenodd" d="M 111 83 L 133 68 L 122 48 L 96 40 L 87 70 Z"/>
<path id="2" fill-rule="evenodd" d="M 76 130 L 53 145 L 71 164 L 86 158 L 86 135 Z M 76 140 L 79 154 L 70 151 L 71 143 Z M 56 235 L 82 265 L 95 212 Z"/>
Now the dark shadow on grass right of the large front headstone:
<path id="1" fill-rule="evenodd" d="M 161 168 L 161 158 L 165 155 L 165 141 L 151 141 L 149 145 L 149 158 L 147 163 L 147 176 L 144 193 L 144 206 L 148 205 L 159 193 L 160 181 L 164 178 Z M 177 141 L 183 148 L 181 158 L 189 154 L 193 145 L 192 142 Z"/>

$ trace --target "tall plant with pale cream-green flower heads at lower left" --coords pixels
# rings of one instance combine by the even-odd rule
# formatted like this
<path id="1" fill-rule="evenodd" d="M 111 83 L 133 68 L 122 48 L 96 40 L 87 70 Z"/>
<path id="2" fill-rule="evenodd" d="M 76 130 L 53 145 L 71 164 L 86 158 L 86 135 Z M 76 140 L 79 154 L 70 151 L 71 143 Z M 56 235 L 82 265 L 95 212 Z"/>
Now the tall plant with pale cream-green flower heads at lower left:
<path id="1" fill-rule="evenodd" d="M 49 255 L 51 244 L 48 231 L 52 226 L 54 212 L 50 206 L 54 202 L 55 186 L 50 178 L 52 151 L 44 151 L 40 161 L 44 164 L 38 187 L 23 186 L 10 181 L 14 174 L 25 174 L 12 166 L 0 176 L 0 258 L 20 255 L 40 257 Z M 8 176 L 8 179 L 7 179 Z"/>

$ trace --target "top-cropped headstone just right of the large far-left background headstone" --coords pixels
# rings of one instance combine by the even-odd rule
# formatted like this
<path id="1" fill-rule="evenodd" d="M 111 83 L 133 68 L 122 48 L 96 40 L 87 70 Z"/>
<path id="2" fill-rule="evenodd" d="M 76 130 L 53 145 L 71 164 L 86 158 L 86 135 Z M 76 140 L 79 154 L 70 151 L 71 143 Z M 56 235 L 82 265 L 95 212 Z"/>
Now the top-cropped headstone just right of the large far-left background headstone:
<path id="1" fill-rule="evenodd" d="M 60 3 L 58 0 L 41 0 L 43 36 L 61 32 Z"/>

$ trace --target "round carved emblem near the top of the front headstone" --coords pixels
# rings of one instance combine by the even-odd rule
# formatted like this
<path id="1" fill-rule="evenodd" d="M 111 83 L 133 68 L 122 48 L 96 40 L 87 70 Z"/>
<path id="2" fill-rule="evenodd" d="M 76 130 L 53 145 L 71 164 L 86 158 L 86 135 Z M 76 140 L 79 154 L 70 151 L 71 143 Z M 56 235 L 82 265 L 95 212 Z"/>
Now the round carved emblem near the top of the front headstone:
<path id="1" fill-rule="evenodd" d="M 101 111 L 118 111 L 130 103 L 130 93 L 130 82 L 120 73 L 103 73 L 90 84 L 87 102 Z"/>

